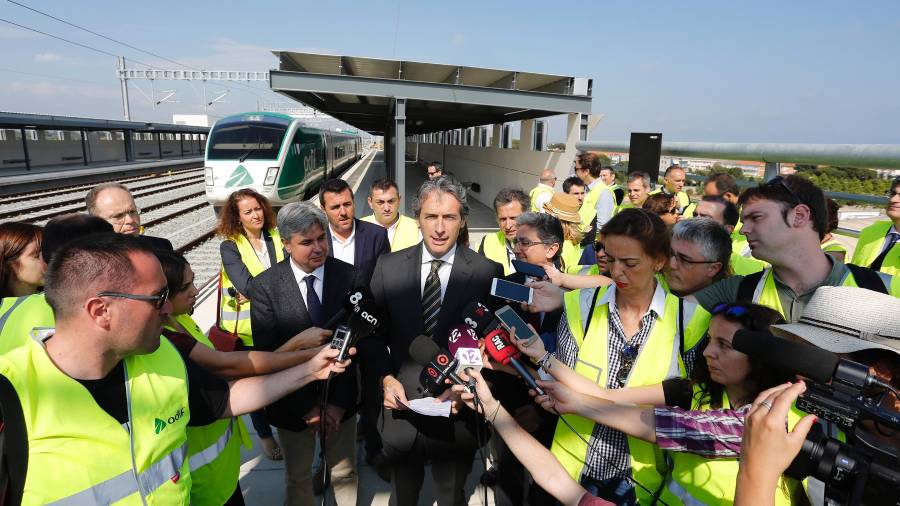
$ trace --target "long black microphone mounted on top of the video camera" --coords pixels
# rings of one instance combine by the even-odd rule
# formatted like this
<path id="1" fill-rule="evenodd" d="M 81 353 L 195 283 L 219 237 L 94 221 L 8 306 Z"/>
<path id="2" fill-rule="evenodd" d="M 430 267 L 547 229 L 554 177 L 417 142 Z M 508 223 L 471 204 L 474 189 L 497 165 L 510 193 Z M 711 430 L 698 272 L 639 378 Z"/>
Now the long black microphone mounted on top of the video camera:
<path id="1" fill-rule="evenodd" d="M 768 332 L 740 329 L 734 333 L 735 350 L 783 371 L 817 383 L 836 380 L 857 387 L 891 388 L 869 372 L 869 367 L 810 344 L 776 337 Z"/>

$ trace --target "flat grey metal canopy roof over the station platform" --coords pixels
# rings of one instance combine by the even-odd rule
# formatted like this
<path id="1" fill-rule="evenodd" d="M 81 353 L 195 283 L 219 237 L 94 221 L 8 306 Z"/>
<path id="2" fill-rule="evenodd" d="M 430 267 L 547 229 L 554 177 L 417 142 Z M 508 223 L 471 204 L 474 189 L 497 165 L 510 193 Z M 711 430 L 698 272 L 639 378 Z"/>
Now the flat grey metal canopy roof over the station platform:
<path id="1" fill-rule="evenodd" d="M 373 135 L 405 134 L 591 112 L 591 80 L 460 65 L 273 51 L 272 91 Z"/>

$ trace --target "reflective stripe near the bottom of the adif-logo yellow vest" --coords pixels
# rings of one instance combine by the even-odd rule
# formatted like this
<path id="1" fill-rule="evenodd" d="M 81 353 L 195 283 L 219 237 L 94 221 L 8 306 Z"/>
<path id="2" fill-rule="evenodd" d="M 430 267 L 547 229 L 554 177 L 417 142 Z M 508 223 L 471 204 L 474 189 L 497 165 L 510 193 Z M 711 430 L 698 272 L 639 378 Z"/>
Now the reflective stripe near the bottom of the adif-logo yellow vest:
<path id="1" fill-rule="evenodd" d="M 173 476 L 179 474 L 186 457 L 187 443 L 172 450 L 168 455 L 164 455 L 162 459 L 154 462 L 149 469 L 138 474 L 137 481 L 140 482 L 145 493 L 153 493 L 159 487 L 172 481 Z M 60 506 L 111 504 L 138 492 L 134 473 L 129 470 L 103 483 L 49 504 Z"/>

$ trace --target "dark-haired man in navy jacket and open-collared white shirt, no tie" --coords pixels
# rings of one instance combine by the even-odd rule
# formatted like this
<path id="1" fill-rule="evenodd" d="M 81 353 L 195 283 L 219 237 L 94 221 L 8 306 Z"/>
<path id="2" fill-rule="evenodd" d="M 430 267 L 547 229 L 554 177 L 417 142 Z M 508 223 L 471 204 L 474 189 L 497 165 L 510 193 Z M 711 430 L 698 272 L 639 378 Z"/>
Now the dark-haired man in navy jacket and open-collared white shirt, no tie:
<path id="1" fill-rule="evenodd" d="M 387 231 L 354 217 L 353 190 L 343 179 L 329 179 L 319 188 L 319 205 L 328 216 L 328 255 L 355 266 L 372 278 L 378 257 L 390 253 Z"/>

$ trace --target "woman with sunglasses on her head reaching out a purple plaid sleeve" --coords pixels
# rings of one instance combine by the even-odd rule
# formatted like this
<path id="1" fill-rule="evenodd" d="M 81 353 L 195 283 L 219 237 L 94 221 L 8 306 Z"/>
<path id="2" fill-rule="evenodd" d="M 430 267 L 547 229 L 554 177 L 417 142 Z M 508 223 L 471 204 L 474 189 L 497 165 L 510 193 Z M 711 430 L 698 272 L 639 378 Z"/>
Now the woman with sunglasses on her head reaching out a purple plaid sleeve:
<path id="1" fill-rule="evenodd" d="M 713 311 L 709 342 L 703 356 L 696 357 L 690 380 L 604 390 L 562 364 L 551 364 L 547 370 L 557 381 L 545 385 L 547 395 L 538 401 L 547 409 L 585 416 L 669 451 L 671 471 L 660 493 L 666 504 L 732 504 L 743 413 L 760 392 L 790 379 L 789 374 L 735 351 L 732 339 L 737 330 L 768 331 L 770 325 L 783 322 L 771 308 L 721 304 Z M 540 353 L 523 349 L 529 356 Z M 732 423 L 710 423 L 717 419 Z M 790 425 L 798 419 L 792 413 Z M 799 499 L 795 494 L 801 493 L 797 482 L 790 480 L 781 491 L 776 502 L 784 505 L 793 504 Z"/>

